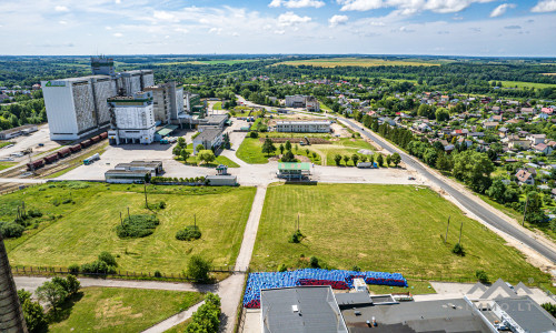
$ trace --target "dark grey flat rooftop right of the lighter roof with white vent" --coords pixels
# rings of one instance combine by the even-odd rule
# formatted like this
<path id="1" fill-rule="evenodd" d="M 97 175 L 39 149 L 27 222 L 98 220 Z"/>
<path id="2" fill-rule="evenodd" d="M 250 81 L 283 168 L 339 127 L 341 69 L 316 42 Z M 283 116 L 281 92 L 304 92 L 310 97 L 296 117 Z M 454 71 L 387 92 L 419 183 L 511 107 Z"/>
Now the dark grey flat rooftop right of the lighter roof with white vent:
<path id="1" fill-rule="evenodd" d="M 489 333 L 480 316 L 473 312 L 464 299 L 403 302 L 389 305 L 371 305 L 341 311 L 350 332 L 446 332 Z M 377 326 L 368 329 L 366 322 L 375 317 Z M 357 330 L 351 330 L 351 329 Z"/>

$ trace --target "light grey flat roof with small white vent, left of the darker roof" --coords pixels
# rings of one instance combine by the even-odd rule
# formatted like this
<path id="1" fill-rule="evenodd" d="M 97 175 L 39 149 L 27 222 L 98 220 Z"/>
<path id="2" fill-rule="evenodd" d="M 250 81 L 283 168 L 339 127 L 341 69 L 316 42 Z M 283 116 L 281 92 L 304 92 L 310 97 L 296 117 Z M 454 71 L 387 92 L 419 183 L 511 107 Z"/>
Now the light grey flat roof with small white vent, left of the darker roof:
<path id="1" fill-rule="evenodd" d="M 328 285 L 266 289 L 260 300 L 265 333 L 348 332 Z"/>

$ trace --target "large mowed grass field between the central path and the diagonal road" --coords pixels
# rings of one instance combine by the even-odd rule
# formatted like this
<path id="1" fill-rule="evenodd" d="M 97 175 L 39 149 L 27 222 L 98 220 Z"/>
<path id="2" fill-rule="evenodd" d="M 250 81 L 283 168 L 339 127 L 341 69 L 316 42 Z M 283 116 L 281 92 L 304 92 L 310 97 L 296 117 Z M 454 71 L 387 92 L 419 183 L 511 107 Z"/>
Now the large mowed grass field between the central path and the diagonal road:
<path id="1" fill-rule="evenodd" d="M 289 243 L 297 215 L 306 239 Z M 448 243 L 448 216 L 451 224 Z M 464 222 L 466 255 L 451 253 Z M 485 270 L 495 281 L 547 282 L 540 270 L 504 240 L 428 188 L 411 185 L 276 185 L 267 191 L 252 269 L 302 266 L 317 256 L 331 268 L 399 272 L 425 279 L 474 279 Z"/>

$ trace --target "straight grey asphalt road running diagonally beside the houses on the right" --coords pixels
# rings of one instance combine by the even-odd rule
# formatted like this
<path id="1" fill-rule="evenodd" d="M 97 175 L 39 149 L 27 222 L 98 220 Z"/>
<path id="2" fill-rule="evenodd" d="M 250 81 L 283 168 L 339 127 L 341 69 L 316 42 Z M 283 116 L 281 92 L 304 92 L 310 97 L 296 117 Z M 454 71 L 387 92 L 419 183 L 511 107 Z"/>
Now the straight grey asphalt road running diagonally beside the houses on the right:
<path id="1" fill-rule="evenodd" d="M 354 129 L 358 129 L 358 131 L 364 134 L 365 137 L 369 138 L 370 140 L 375 141 L 377 144 L 379 144 L 383 149 L 389 152 L 397 152 L 401 157 L 401 160 L 404 163 L 407 165 L 414 168 L 417 170 L 419 173 L 421 173 L 424 176 L 429 179 L 433 183 L 435 183 L 437 186 L 446 191 L 449 195 L 451 195 L 454 199 L 456 199 L 463 206 L 465 206 L 467 210 L 469 210 L 471 213 L 474 213 L 476 216 L 485 221 L 486 223 L 493 225 L 494 228 L 512 235 L 519 242 L 524 243 L 525 245 L 532 248 L 533 250 L 537 251 L 540 255 L 545 256 L 552 263 L 556 263 L 556 252 L 553 251 L 552 249 L 548 249 L 547 246 L 538 243 L 535 239 L 530 238 L 528 234 L 524 233 L 519 229 L 517 229 L 515 225 L 513 225 L 510 222 L 499 218 L 488 209 L 478 205 L 477 203 L 474 202 L 468 195 L 459 192 L 457 189 L 454 189 L 451 185 L 446 183 L 444 180 L 435 175 L 434 173 L 430 173 L 426 168 L 424 168 L 420 163 L 415 161 L 414 158 L 409 157 L 408 154 L 404 153 L 400 150 L 393 149 L 389 144 L 387 144 L 384 139 L 379 138 L 378 135 L 370 133 L 369 131 L 361 129 L 359 125 L 354 123 L 350 120 L 347 119 L 341 119 L 341 121 L 346 122 Z"/>

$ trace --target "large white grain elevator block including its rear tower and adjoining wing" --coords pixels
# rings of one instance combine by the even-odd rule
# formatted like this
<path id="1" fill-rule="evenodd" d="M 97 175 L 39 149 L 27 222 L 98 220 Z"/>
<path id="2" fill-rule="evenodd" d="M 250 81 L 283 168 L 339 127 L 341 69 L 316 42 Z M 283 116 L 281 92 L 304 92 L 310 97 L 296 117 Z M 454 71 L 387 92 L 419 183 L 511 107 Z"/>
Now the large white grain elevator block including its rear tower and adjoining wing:
<path id="1" fill-rule="evenodd" d="M 92 57 L 93 75 L 42 81 L 52 140 L 78 140 L 110 124 L 107 99 L 128 95 L 155 84 L 151 70 L 116 73 L 113 60 Z"/>

